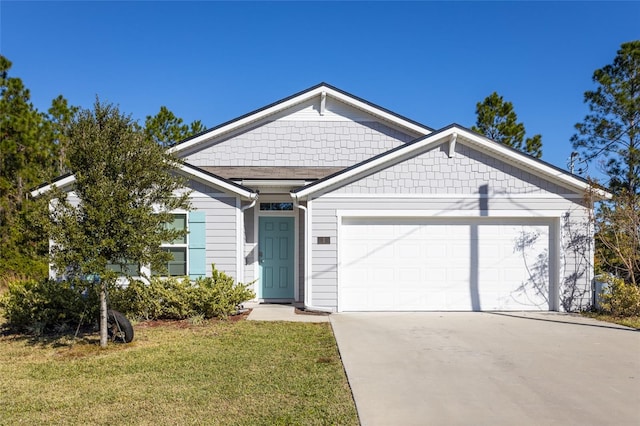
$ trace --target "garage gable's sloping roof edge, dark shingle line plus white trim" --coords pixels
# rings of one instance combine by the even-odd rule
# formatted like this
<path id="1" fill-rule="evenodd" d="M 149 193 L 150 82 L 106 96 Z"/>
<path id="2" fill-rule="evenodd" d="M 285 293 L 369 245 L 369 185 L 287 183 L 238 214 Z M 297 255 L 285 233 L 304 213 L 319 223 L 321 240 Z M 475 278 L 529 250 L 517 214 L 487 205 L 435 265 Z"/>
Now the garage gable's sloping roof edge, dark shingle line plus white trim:
<path id="1" fill-rule="evenodd" d="M 376 170 L 381 170 L 400 163 L 403 160 L 415 157 L 428 149 L 439 145 L 445 141 L 451 144 L 456 143 L 458 138 L 463 139 L 469 146 L 486 152 L 494 157 L 503 157 L 511 164 L 526 170 L 534 175 L 540 176 L 559 186 L 577 191 L 587 191 L 593 189 L 595 195 L 601 199 L 609 199 L 612 194 L 602 188 L 593 188 L 592 185 L 579 176 L 573 175 L 552 164 L 520 152 L 510 146 L 495 142 L 472 130 L 458 124 L 450 124 L 427 136 L 418 138 L 408 144 L 400 145 L 390 151 L 386 151 L 375 157 L 369 158 L 351 167 L 343 169 L 337 173 L 319 179 L 303 187 L 291 191 L 292 197 L 302 200 L 322 193 L 342 182 L 348 183 L 356 181 Z"/>

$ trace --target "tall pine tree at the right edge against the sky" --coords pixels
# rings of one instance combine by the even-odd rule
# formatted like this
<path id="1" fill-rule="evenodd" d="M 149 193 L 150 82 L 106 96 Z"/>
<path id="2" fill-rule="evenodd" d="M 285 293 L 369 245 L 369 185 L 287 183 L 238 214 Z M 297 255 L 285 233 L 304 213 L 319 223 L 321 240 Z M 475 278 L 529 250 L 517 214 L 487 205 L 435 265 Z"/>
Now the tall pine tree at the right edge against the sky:
<path id="1" fill-rule="evenodd" d="M 613 64 L 593 73 L 584 93 L 589 114 L 571 142 L 584 161 L 604 159 L 609 187 L 640 193 L 640 40 L 623 43 Z"/>

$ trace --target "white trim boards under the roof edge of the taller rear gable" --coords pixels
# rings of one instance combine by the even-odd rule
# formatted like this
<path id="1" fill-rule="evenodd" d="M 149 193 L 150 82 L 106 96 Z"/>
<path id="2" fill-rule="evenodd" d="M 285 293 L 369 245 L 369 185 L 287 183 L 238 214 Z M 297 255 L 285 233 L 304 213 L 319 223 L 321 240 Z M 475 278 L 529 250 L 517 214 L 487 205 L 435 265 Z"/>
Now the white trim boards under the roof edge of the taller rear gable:
<path id="1" fill-rule="evenodd" d="M 376 107 L 373 107 L 372 105 L 369 105 L 365 102 L 359 101 L 355 98 L 352 98 L 350 96 L 344 95 L 341 92 L 337 92 L 333 89 L 331 89 L 330 87 L 327 87 L 325 85 L 321 85 L 316 87 L 313 90 L 304 92 L 298 96 L 296 96 L 295 98 L 291 98 L 288 99 L 284 102 L 279 102 L 276 105 L 273 105 L 270 108 L 267 109 L 263 109 L 261 111 L 256 112 L 255 114 L 249 115 L 247 117 L 244 117 L 242 119 L 236 120 L 232 123 L 229 123 L 226 126 L 222 126 L 219 127 L 217 129 L 213 129 L 207 133 L 204 133 L 200 136 L 197 136 L 193 139 L 190 139 L 188 141 L 182 142 L 178 145 L 175 145 L 171 148 L 169 148 L 169 152 L 181 152 L 184 150 L 187 150 L 189 148 L 192 148 L 204 141 L 219 137 L 221 135 L 224 135 L 225 133 L 229 133 L 232 132 L 236 129 L 239 129 L 241 127 L 247 126 L 251 123 L 254 123 L 256 121 L 262 120 L 264 118 L 269 117 L 270 115 L 276 114 L 280 111 L 286 110 L 288 108 L 291 108 L 297 104 L 300 104 L 302 102 L 305 102 L 309 99 L 312 99 L 314 97 L 321 97 L 322 93 L 326 93 L 325 96 L 330 96 L 332 98 L 335 98 L 347 105 L 350 105 L 352 107 L 358 108 L 360 110 L 363 110 L 379 119 L 391 122 L 393 124 L 395 124 L 396 126 L 400 126 L 406 129 L 409 129 L 415 133 L 418 133 L 420 135 L 427 135 L 429 133 L 431 133 L 432 131 L 417 125 L 413 122 L 401 119 L 399 117 L 397 117 L 396 115 L 393 115 L 389 112 L 386 112 L 384 110 L 378 109 Z"/>

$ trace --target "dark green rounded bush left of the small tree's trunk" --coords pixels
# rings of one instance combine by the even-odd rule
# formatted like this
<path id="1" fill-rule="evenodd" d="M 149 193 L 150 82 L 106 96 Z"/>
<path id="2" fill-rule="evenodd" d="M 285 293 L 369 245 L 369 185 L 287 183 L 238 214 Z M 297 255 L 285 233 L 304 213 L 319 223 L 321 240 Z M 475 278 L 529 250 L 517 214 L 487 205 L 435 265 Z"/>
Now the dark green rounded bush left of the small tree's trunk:
<path id="1" fill-rule="evenodd" d="M 24 280 L 9 284 L 0 307 L 9 327 L 41 335 L 98 317 L 96 286 L 79 281 Z"/>

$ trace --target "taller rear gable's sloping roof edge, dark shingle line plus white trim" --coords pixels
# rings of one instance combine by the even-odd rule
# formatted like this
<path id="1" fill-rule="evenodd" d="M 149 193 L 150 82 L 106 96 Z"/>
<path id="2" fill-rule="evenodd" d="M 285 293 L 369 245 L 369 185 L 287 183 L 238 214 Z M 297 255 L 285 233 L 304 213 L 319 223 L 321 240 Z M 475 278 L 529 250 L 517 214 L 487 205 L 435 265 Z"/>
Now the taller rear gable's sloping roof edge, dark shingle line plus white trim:
<path id="1" fill-rule="evenodd" d="M 204 142 L 210 141 L 211 139 L 216 138 L 220 135 L 224 135 L 226 133 L 232 132 L 239 128 L 248 126 L 257 121 L 263 120 L 269 116 L 278 114 L 288 108 L 301 104 L 312 98 L 317 97 L 322 101 L 322 99 L 327 96 L 337 99 L 340 102 L 343 102 L 353 108 L 364 111 L 378 118 L 383 122 L 388 122 L 398 127 L 408 129 L 411 132 L 417 133 L 419 135 L 427 135 L 433 132 L 432 128 L 425 126 L 423 124 L 420 124 L 417 121 L 403 117 L 386 108 L 375 105 L 371 102 L 368 102 L 364 99 L 361 99 L 357 96 L 354 96 L 350 93 L 340 90 L 337 87 L 331 86 L 330 84 L 320 83 L 306 90 L 295 93 L 289 97 L 286 97 L 272 104 L 269 104 L 265 107 L 262 107 L 255 111 L 244 114 L 238 118 L 222 123 L 209 130 L 205 130 L 204 132 L 201 132 L 197 135 L 191 136 L 169 147 L 169 151 L 179 153 L 181 151 L 196 147 L 197 145 L 202 144 Z"/>

